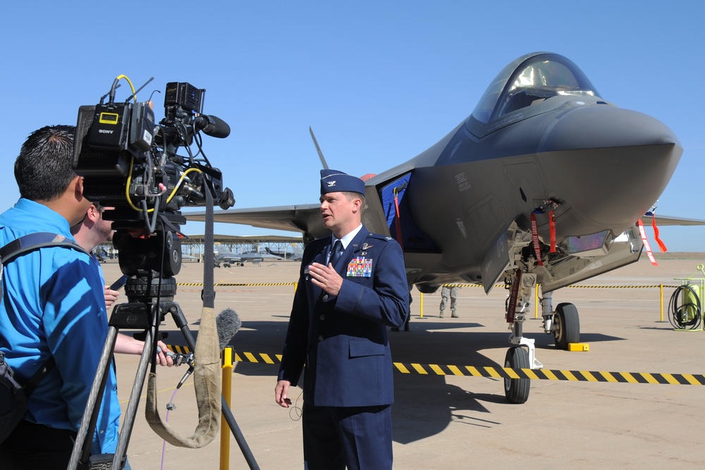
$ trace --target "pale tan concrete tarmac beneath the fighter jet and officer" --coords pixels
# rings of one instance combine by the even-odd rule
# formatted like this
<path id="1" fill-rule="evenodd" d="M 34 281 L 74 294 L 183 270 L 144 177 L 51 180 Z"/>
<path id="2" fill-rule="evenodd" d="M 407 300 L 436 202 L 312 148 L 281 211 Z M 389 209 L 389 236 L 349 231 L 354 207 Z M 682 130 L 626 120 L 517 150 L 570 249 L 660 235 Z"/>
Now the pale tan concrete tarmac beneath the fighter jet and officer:
<path id="1" fill-rule="evenodd" d="M 701 257 L 697 257 L 701 256 Z M 705 262 L 646 256 L 584 285 L 615 288 L 564 288 L 553 294 L 554 307 L 572 302 L 580 312 L 581 341 L 588 352 L 556 350 L 553 336 L 538 320 L 525 323 L 534 338 L 537 359 L 545 369 L 649 373 L 705 372 L 705 332 L 673 330 L 668 312 L 661 321 L 658 287 L 680 285 Z M 117 264 L 104 264 L 108 282 L 119 276 Z M 299 264 L 290 261 L 216 268 L 216 283 L 295 283 Z M 699 271 L 695 277 L 703 278 Z M 200 283 L 202 264 L 184 264 L 178 283 Z M 630 287 L 625 287 L 630 286 Z M 231 341 L 238 352 L 281 353 L 293 285 L 216 287 L 216 312 L 238 312 L 243 327 Z M 673 287 L 663 289 L 663 308 Z M 458 295 L 460 318 L 439 319 L 440 292 L 413 290 L 409 332 L 390 333 L 394 361 L 458 366 L 503 365 L 508 348 L 504 303 L 508 291 L 496 287 L 463 287 Z M 123 301 L 125 299 L 122 299 Z M 201 315 L 200 287 L 180 286 L 176 301 L 189 328 L 197 334 Z M 423 314 L 421 311 L 423 307 Z M 168 345 L 186 345 L 167 316 L 163 330 Z M 128 331 L 123 330 L 123 333 Z M 119 355 L 118 397 L 123 413 L 137 369 L 137 357 Z M 278 366 L 238 362 L 231 377 L 231 409 L 261 469 L 302 469 L 300 389 L 290 393 L 294 407 L 274 402 Z M 185 367 L 159 368 L 159 409 L 166 413 Z M 392 407 L 396 469 L 701 469 L 705 464 L 705 386 L 642 385 L 577 381 L 531 381 L 525 404 L 505 401 L 503 380 L 467 376 L 395 374 Z M 140 400 L 128 447 L 133 469 L 217 469 L 216 439 L 198 450 L 164 446 L 144 419 Z M 173 398 L 176 409 L 168 422 L 184 435 L 197 425 L 192 381 Z M 226 427 L 225 431 L 229 430 Z M 229 468 L 248 468 L 230 435 Z"/>

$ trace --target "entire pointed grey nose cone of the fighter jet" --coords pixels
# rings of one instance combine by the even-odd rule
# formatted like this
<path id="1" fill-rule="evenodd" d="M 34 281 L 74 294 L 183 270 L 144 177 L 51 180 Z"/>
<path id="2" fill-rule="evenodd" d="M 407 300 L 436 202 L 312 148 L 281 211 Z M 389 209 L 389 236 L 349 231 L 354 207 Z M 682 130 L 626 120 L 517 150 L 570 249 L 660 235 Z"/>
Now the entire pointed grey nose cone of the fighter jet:
<path id="1" fill-rule="evenodd" d="M 610 105 L 565 111 L 539 147 L 553 194 L 570 204 L 582 233 L 620 233 L 634 223 L 661 196 L 682 154 L 659 120 Z"/>

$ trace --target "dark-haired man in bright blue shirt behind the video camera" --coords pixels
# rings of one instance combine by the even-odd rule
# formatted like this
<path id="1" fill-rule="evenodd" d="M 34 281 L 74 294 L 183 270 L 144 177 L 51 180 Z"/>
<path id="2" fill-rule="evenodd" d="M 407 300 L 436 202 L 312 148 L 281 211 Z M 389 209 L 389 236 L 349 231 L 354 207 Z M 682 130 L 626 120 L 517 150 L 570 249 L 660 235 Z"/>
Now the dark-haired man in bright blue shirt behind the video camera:
<path id="1" fill-rule="evenodd" d="M 41 128 L 15 161 L 20 199 L 0 214 L 0 245 L 35 232 L 72 239 L 90 207 L 73 172 L 73 126 Z M 102 280 L 90 256 L 45 247 L 4 269 L 0 350 L 26 382 L 50 356 L 56 366 L 27 402 L 25 419 L 0 444 L 4 469 L 66 469 L 108 330 Z M 114 453 L 120 405 L 110 368 L 93 439 Z"/>

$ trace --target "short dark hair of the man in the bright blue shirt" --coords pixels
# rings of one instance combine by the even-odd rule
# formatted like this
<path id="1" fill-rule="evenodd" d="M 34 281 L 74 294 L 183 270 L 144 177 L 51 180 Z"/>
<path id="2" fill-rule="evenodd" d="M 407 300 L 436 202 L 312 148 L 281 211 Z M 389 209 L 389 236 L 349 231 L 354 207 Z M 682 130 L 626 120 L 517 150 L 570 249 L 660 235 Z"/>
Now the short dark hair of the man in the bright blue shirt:
<path id="1" fill-rule="evenodd" d="M 47 125 L 22 144 L 15 161 L 20 197 L 51 201 L 61 196 L 76 174 L 73 171 L 73 125 Z"/>

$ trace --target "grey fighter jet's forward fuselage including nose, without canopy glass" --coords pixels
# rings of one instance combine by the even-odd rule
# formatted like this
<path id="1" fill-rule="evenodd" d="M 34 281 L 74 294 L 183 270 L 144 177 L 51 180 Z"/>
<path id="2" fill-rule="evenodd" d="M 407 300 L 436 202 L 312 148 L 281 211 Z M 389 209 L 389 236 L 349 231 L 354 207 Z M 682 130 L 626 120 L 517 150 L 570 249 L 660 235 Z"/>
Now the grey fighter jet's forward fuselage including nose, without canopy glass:
<path id="1" fill-rule="evenodd" d="M 491 245 L 512 223 L 531 230 L 532 214 L 548 245 L 552 213 L 553 240 L 571 254 L 568 237 L 617 237 L 668 184 L 682 149 L 660 121 L 596 92 L 560 94 L 535 83 L 516 89 L 531 104 L 487 123 L 476 109 L 434 147 L 368 181 L 368 205 L 379 204 L 369 213 L 381 214 L 381 192 L 407 175 L 412 223 L 402 225 L 401 240 L 410 278 L 479 281 Z M 388 220 L 370 216 L 366 223 L 399 238 Z"/>

